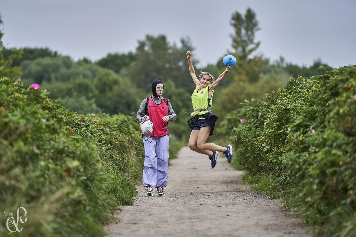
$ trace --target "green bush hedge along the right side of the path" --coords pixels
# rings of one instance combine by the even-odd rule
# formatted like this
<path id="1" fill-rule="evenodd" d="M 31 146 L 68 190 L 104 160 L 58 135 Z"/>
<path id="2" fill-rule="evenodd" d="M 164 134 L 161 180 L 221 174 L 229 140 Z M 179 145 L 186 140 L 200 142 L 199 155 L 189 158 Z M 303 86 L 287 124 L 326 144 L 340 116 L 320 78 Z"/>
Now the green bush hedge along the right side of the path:
<path id="1" fill-rule="evenodd" d="M 317 224 L 320 236 L 356 232 L 355 89 L 356 66 L 325 69 L 245 101 L 231 116 L 247 175 L 268 179 L 261 182 Z"/>

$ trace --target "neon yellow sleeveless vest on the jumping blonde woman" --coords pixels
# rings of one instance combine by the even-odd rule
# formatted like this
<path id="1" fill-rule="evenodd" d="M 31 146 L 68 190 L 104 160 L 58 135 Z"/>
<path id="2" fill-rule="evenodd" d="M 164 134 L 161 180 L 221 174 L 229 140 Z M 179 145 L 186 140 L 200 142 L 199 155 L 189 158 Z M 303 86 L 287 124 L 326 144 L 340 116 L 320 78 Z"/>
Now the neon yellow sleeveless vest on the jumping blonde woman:
<path id="1" fill-rule="evenodd" d="M 198 92 L 200 88 L 200 85 L 197 86 L 197 88 L 195 88 L 193 94 L 192 94 L 192 104 L 193 104 L 193 109 L 208 109 L 208 92 L 209 92 L 209 86 L 204 87 L 203 89 L 201 89 L 201 91 Z M 214 90 L 213 93 L 211 93 L 211 99 L 210 99 L 210 103 L 209 103 L 209 109 L 211 108 L 211 104 L 213 102 L 213 95 L 214 95 Z M 195 113 L 193 111 L 193 113 L 191 113 L 191 116 L 195 116 L 195 115 L 201 115 L 201 114 L 206 114 L 209 111 L 199 111 L 198 113 Z"/>

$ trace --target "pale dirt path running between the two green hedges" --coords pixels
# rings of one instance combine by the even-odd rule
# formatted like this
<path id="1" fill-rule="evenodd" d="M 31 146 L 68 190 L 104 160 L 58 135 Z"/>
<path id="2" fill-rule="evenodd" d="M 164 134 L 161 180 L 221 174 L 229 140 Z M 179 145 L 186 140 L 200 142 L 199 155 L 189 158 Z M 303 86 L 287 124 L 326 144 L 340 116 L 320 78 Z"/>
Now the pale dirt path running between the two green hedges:
<path id="1" fill-rule="evenodd" d="M 223 154 L 211 169 L 208 157 L 183 147 L 170 163 L 166 195 L 145 197 L 138 186 L 135 205 L 106 226 L 109 236 L 309 236 L 280 200 L 239 184 L 243 172 Z"/>

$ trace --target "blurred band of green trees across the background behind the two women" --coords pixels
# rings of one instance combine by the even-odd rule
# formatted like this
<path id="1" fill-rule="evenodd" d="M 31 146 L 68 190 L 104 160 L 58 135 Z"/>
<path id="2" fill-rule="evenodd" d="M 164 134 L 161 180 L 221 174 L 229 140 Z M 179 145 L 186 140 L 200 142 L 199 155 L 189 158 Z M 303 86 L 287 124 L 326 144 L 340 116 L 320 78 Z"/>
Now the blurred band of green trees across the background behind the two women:
<path id="1" fill-rule="evenodd" d="M 271 62 L 257 54 L 260 42 L 255 33 L 260 30 L 256 14 L 248 8 L 245 14 L 235 12 L 231 16 L 231 47 L 222 52 L 215 64 L 208 64 L 196 71 L 209 71 L 218 76 L 224 70 L 221 60 L 232 54 L 237 63 L 217 88 L 213 112 L 224 118 L 227 112 L 241 108 L 244 99 L 262 98 L 266 92 L 283 86 L 289 77 L 320 74 L 316 60 L 310 67 L 300 67 L 287 62 L 282 56 Z M 134 52 L 109 53 L 104 58 L 77 61 L 49 48 L 21 48 L 21 58 L 13 58 L 12 66 L 21 68 L 21 80 L 38 83 L 50 92 L 50 97 L 60 98 L 66 108 L 78 113 L 133 114 L 142 99 L 151 94 L 151 82 L 160 79 L 165 84 L 164 97 L 171 99 L 178 114 L 173 124 L 177 135 L 182 136 L 190 113 L 190 93 L 194 84 L 190 79 L 185 52 L 194 55 L 194 45 L 189 38 L 179 44 L 167 41 L 165 35 L 146 35 L 139 40 Z M 9 58 L 18 49 L 5 49 L 4 58 Z M 193 56 L 193 64 L 198 59 Z M 226 103 L 229 101 L 229 103 Z M 173 129 L 173 128 L 172 128 Z M 189 132 L 189 131 L 188 131 Z"/>

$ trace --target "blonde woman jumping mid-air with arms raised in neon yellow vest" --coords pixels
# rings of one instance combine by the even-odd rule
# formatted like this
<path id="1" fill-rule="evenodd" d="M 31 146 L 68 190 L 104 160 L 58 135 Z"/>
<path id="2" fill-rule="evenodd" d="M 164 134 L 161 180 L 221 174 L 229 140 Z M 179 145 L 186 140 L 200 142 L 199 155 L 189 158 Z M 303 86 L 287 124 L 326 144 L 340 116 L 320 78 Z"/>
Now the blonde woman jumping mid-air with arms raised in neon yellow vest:
<path id="1" fill-rule="evenodd" d="M 219 75 L 218 79 L 215 80 L 214 76 L 209 72 L 200 71 L 201 74 L 198 80 L 192 61 L 190 60 L 192 54 L 190 51 L 188 51 L 187 54 L 190 76 L 192 76 L 196 86 L 192 94 L 194 112 L 190 114 L 193 118 L 188 120 L 189 128 L 192 130 L 189 137 L 189 148 L 190 150 L 209 156 L 211 168 L 214 168 L 216 165 L 218 151 L 223 152 L 227 158 L 227 163 L 230 163 L 232 159 L 231 145 L 219 146 L 212 142 L 206 142 L 208 137 L 213 135 L 215 122 L 218 120 L 218 117 L 211 114 L 210 110 L 214 89 L 230 71 L 230 64 L 228 64 L 226 70 Z"/>

